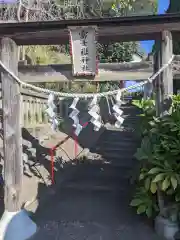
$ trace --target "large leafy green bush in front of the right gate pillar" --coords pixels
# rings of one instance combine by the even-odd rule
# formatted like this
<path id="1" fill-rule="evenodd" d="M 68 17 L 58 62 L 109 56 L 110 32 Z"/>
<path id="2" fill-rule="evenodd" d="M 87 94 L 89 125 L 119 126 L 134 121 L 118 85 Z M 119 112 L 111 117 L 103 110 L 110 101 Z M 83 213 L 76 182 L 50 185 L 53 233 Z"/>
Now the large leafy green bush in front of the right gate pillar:
<path id="1" fill-rule="evenodd" d="M 151 100 L 135 105 L 143 110 L 142 143 L 135 154 L 141 165 L 137 190 L 141 195 L 136 194 L 131 205 L 137 207 L 138 214 L 150 217 L 158 211 L 160 193 L 171 195 L 172 202 L 180 200 L 180 96 L 173 96 L 171 114 L 163 117 L 155 117 Z M 164 207 L 158 204 L 159 209 Z"/>

